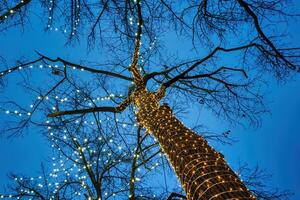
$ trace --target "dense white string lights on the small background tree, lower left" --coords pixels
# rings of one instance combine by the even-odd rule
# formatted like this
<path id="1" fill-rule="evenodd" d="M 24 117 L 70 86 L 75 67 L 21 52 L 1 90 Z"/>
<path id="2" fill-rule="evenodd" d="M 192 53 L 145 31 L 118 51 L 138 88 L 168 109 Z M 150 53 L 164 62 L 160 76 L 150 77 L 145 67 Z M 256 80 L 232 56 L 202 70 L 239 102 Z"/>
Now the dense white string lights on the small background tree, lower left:
<path id="1" fill-rule="evenodd" d="M 49 99 L 51 99 L 49 97 Z M 121 120 L 117 120 L 119 123 L 122 123 Z M 56 137 L 59 137 L 59 135 L 61 133 L 55 133 L 52 131 L 52 126 L 50 124 L 50 121 L 46 121 L 47 124 L 49 124 L 49 126 L 47 127 L 48 130 L 50 130 L 49 132 L 49 137 L 52 138 L 52 141 L 53 142 L 57 142 L 57 139 L 55 139 Z M 66 130 L 63 130 L 62 132 L 64 133 L 67 133 Z M 74 141 L 78 141 L 79 139 L 78 138 L 74 138 L 74 137 L 70 137 L 68 135 L 63 135 L 62 137 L 63 140 L 74 140 Z M 88 146 L 88 141 L 89 139 L 88 138 L 80 138 L 80 141 L 82 141 L 82 145 L 85 145 L 85 146 L 79 146 L 77 150 L 75 150 L 73 153 L 72 153 L 72 157 L 75 156 L 77 157 L 76 159 L 76 162 L 82 162 L 83 161 L 83 155 L 85 153 L 96 153 L 96 150 L 93 150 L 90 146 Z M 102 141 L 102 137 L 97 137 L 96 138 L 96 141 L 100 141 L 100 143 L 103 143 L 104 141 Z M 109 139 L 108 140 L 109 143 L 114 143 L 115 141 L 113 139 Z M 53 143 L 52 144 L 52 148 L 54 148 L 54 150 L 58 151 L 58 152 L 61 152 L 61 149 L 56 145 L 56 143 Z M 123 147 L 121 145 L 118 145 L 117 148 L 119 150 L 122 150 Z M 115 164 L 115 163 L 120 163 L 122 162 L 121 159 L 112 159 L 112 153 L 111 151 L 109 151 L 108 149 L 103 149 L 103 156 L 101 156 L 99 158 L 99 161 L 103 161 L 104 163 L 111 163 L 111 164 Z M 126 152 L 123 152 L 123 151 L 120 151 L 120 155 L 122 155 L 123 157 L 125 157 L 127 154 Z M 44 182 L 44 177 L 42 176 L 38 176 L 38 177 L 31 177 L 30 179 L 23 179 L 22 177 L 21 178 L 15 178 L 14 180 L 15 181 L 27 181 L 27 180 L 30 180 L 30 181 L 35 181 L 33 182 L 35 185 L 36 185 L 36 188 L 35 189 L 40 189 L 42 190 L 43 188 L 47 188 L 52 190 L 50 192 L 52 192 L 52 196 L 50 197 L 50 200 L 54 200 L 57 196 L 57 193 L 59 192 L 60 190 L 60 187 L 62 187 L 65 183 L 67 183 L 69 181 L 69 178 L 73 177 L 75 178 L 74 181 L 78 180 L 80 181 L 81 183 L 81 186 L 82 188 L 89 188 L 90 186 L 88 184 L 89 183 L 89 179 L 87 177 L 87 175 L 80 175 L 82 173 L 86 173 L 86 170 L 88 169 L 93 169 L 94 167 L 96 167 L 96 161 L 94 160 L 90 160 L 90 161 L 87 161 L 86 165 L 84 166 L 79 166 L 77 165 L 76 163 L 68 163 L 68 158 L 67 159 L 60 159 L 61 156 L 59 158 L 56 158 L 56 157 L 52 157 L 51 160 L 53 161 L 52 162 L 52 171 L 48 174 L 49 176 L 49 180 L 50 182 L 48 182 L 47 184 Z M 70 167 L 71 166 L 71 167 Z M 76 172 L 77 171 L 77 172 Z M 61 179 L 61 177 L 65 177 L 64 179 Z M 52 180 L 50 180 L 52 179 Z M 139 182 L 141 180 L 140 177 L 136 177 L 135 181 L 136 182 Z M 22 194 L 24 194 L 24 196 L 26 197 L 27 195 L 28 196 L 33 196 L 35 195 L 35 191 L 33 190 L 23 190 L 22 189 Z M 75 195 L 77 196 L 81 196 L 83 193 L 78 191 L 75 193 Z M 116 196 L 116 193 L 114 193 L 113 191 L 110 191 L 110 192 L 105 192 L 104 193 L 105 196 Z M 10 199 L 16 199 L 16 198 L 19 198 L 18 197 L 18 194 L 8 194 L 8 195 L 1 195 L 0 196 L 1 199 L 3 198 L 10 198 Z M 21 197 L 20 197 L 21 198 Z M 88 197 L 90 199 L 94 199 L 92 197 Z M 99 198 L 100 199 L 100 198 Z"/>

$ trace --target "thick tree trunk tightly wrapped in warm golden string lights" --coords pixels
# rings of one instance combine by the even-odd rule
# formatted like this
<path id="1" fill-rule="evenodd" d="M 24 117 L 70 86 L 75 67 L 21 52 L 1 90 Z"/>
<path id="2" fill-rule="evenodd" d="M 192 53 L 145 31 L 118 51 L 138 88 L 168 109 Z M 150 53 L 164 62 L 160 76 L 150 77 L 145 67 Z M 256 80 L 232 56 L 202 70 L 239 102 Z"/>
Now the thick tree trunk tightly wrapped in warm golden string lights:
<path id="1" fill-rule="evenodd" d="M 229 168 L 222 154 L 185 127 L 155 94 L 143 91 L 135 99 L 139 124 L 159 142 L 189 200 L 256 199 Z"/>

